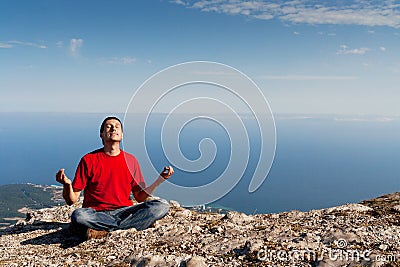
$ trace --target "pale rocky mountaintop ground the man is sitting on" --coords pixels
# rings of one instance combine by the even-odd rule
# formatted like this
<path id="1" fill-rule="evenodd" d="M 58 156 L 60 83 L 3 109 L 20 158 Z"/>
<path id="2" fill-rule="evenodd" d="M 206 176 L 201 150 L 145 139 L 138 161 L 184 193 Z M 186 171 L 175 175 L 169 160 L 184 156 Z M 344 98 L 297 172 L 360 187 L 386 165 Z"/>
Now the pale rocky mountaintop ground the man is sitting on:
<path id="1" fill-rule="evenodd" d="M 400 193 L 308 212 L 202 213 L 171 201 L 154 227 L 82 241 L 75 206 L 0 231 L 0 266 L 400 266 Z"/>

